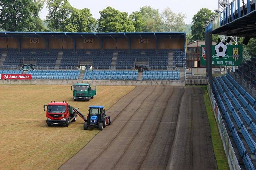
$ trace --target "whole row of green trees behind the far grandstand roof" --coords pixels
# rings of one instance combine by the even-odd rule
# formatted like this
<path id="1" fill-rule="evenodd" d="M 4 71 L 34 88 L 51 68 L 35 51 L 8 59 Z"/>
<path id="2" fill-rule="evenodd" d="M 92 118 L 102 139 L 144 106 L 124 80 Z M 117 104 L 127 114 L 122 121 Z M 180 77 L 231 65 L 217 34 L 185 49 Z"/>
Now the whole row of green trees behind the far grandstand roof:
<path id="1" fill-rule="evenodd" d="M 47 16 L 40 19 L 46 3 Z M 1 0 L 0 28 L 4 31 L 60 32 L 179 32 L 185 31 L 186 14 L 174 13 L 167 7 L 162 13 L 143 6 L 131 15 L 107 7 L 100 18 L 93 18 L 90 9 L 76 9 L 68 0 Z"/>

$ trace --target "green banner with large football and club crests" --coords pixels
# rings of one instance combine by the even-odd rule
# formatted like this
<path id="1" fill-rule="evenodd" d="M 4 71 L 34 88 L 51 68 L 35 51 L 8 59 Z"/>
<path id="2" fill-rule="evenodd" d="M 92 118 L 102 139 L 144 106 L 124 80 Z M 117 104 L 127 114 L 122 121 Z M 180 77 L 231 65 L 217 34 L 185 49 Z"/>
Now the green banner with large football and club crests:
<path id="1" fill-rule="evenodd" d="M 212 65 L 238 66 L 242 63 L 242 45 L 226 45 L 222 41 L 212 45 Z M 201 45 L 201 65 L 206 65 L 205 45 Z"/>

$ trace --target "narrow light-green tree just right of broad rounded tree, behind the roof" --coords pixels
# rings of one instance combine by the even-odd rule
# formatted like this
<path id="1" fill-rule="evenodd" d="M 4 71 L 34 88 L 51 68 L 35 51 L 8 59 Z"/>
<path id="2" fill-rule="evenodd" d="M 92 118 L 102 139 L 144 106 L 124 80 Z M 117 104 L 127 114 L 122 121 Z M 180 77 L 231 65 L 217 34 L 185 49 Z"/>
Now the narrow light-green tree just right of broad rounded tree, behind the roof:
<path id="1" fill-rule="evenodd" d="M 146 24 L 146 21 L 143 20 L 142 13 L 140 11 L 134 11 L 129 18 L 132 20 L 132 24 L 135 27 L 135 32 L 142 32 L 143 27 Z"/>

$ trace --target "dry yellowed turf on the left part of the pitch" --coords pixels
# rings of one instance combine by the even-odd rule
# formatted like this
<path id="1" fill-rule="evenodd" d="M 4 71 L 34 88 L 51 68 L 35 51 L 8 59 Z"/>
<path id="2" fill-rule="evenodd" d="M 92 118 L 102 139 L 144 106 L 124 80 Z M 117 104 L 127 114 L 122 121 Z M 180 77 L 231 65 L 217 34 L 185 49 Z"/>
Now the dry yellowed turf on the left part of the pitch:
<path id="1" fill-rule="evenodd" d="M 0 169 L 58 169 L 98 132 L 84 130 L 77 117 L 69 127 L 47 127 L 43 105 L 67 102 L 87 114 L 89 105 L 109 109 L 134 86 L 97 86 L 89 102 L 74 101 L 70 86 L 0 85 Z"/>

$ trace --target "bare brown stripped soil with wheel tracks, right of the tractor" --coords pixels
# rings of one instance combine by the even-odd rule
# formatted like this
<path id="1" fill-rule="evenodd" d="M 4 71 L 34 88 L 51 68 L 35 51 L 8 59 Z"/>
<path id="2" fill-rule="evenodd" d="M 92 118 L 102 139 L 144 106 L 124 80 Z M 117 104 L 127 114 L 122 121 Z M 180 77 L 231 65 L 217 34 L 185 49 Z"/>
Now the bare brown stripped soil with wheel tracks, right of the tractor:
<path id="1" fill-rule="evenodd" d="M 136 87 L 108 109 L 112 124 L 60 169 L 217 169 L 203 94 Z"/>

